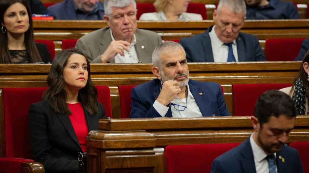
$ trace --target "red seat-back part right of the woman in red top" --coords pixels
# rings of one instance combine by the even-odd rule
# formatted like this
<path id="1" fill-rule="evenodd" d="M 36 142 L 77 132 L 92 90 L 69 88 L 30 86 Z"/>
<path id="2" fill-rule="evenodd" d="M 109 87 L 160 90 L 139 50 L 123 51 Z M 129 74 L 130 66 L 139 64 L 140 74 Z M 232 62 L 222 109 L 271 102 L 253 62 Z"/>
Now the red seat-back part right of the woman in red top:
<path id="1" fill-rule="evenodd" d="M 109 87 L 108 86 L 96 86 L 96 88 L 98 90 L 98 101 L 103 104 L 106 117 L 113 118 L 111 92 L 109 90 Z"/>

